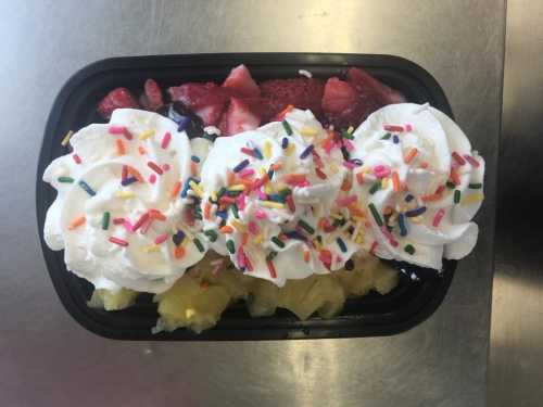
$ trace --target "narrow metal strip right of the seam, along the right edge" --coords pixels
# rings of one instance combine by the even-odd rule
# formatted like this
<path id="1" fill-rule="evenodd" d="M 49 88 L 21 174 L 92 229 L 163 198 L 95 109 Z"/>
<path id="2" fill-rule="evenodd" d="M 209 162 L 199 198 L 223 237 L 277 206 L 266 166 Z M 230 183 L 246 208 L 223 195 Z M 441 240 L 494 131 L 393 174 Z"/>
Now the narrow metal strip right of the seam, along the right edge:
<path id="1" fill-rule="evenodd" d="M 489 406 L 541 406 L 543 3 L 509 1 Z M 534 208 L 535 212 L 534 212 Z"/>

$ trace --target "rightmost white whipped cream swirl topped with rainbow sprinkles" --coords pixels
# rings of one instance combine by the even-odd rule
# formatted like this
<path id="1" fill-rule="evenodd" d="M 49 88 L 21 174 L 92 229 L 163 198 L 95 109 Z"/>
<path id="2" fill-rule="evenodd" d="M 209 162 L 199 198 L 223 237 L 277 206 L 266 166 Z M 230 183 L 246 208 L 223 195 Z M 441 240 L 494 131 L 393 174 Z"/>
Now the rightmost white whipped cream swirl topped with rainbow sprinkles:
<path id="1" fill-rule="evenodd" d="M 388 125 L 403 126 L 405 131 L 388 131 Z M 478 227 L 470 220 L 483 198 L 484 161 L 452 119 L 428 105 L 391 104 L 372 113 L 356 129 L 353 144 L 352 157 L 364 164 L 354 170 L 355 179 L 357 173 L 363 174 L 363 183 L 355 181 L 353 188 L 367 211 L 365 250 L 434 269 L 441 269 L 442 257 L 458 259 L 472 251 Z M 414 155 L 411 161 L 409 153 Z M 452 168 L 457 176 L 451 177 Z M 396 190 L 393 173 L 397 174 Z M 386 187 L 381 183 L 375 191 L 381 177 L 387 179 Z M 383 213 L 392 214 L 390 232 L 379 227 L 369 204 L 383 221 Z M 417 209 L 424 213 L 412 216 Z"/>

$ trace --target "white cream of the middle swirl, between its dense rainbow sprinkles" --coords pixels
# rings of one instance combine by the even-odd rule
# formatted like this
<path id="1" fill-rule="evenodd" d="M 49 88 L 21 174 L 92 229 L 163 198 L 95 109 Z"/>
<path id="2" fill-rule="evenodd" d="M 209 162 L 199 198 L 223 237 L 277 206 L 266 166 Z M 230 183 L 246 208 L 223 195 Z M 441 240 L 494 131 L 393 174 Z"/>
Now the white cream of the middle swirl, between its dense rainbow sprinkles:
<path id="1" fill-rule="evenodd" d="M 318 225 L 320 218 L 328 218 L 337 211 L 336 199 L 348 173 L 342 165 L 341 151 L 339 149 L 333 149 L 328 153 L 325 151 L 321 143 L 328 133 L 310 111 L 293 110 L 286 115 L 286 120 L 292 129 L 291 136 L 288 136 L 280 122 L 274 122 L 255 130 L 216 139 L 202 167 L 200 185 L 204 190 L 202 200 L 204 230 L 211 230 L 212 233 L 218 231 L 219 236 L 212 243 L 212 249 L 223 255 L 229 254 L 233 264 L 244 270 L 244 274 L 273 281 L 279 287 L 283 285 L 288 279 L 302 279 L 312 274 L 327 274 L 339 269 L 359 249 L 351 239 L 351 233 L 346 231 L 350 225 L 328 232 L 321 230 Z M 283 139 L 288 140 L 287 149 L 282 147 Z M 302 153 L 310 145 L 313 145 L 315 152 L 321 157 L 320 170 L 326 179 L 317 176 L 316 158 L 312 153 L 301 158 Z M 243 148 L 250 150 L 256 148 L 263 157 L 252 157 L 242 152 Z M 241 207 L 237 205 L 239 218 L 236 218 L 231 209 L 226 212 L 226 225 L 232 228 L 232 232 L 223 233 L 219 228 L 222 218 L 216 215 L 217 205 L 215 203 L 212 205 L 212 215 L 209 219 L 205 219 L 205 205 L 215 202 L 213 195 L 220 188 L 228 187 L 228 170 L 233 170 L 245 160 L 248 165 L 238 171 L 237 176 L 243 178 L 242 176 L 245 175 L 248 180 L 260 179 L 262 170 L 267 171 L 274 164 L 281 163 L 281 167 L 274 171 L 272 181 L 268 183 L 272 189 L 267 192 L 273 196 L 286 188 L 291 189 L 295 211 L 292 212 L 288 204 L 280 204 L 279 207 L 266 206 L 264 201 L 272 199 L 262 196 L 266 193 L 265 188 L 262 189 L 261 194 L 256 191 L 247 194 L 244 191 L 242 192 L 244 207 L 243 204 Z M 289 185 L 287 179 L 292 174 L 305 176 L 307 186 Z M 235 182 L 235 185 L 239 183 L 239 181 Z M 311 233 L 300 227 L 300 220 L 313 228 L 315 232 Z M 307 242 L 286 239 L 281 247 L 272 240 L 293 230 L 304 236 Z M 321 243 L 314 243 L 317 236 Z M 343 247 L 339 246 L 338 238 L 344 243 Z M 243 243 L 244 239 L 247 241 Z M 233 244 L 233 254 L 228 252 L 227 240 Z M 240 258 L 240 246 L 243 247 L 244 256 L 249 258 L 251 267 L 244 262 L 243 255 Z M 327 264 L 319 258 L 321 250 L 329 253 L 330 260 L 326 260 Z M 276 277 L 273 276 L 266 262 L 269 253 L 275 253 L 272 262 Z"/>

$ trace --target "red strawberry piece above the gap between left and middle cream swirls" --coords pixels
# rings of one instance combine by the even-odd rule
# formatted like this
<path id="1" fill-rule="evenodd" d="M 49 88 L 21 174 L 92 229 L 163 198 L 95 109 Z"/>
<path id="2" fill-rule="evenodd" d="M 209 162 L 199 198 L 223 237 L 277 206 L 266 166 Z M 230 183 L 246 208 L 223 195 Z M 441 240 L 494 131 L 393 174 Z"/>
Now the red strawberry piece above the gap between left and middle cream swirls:
<path id="1" fill-rule="evenodd" d="M 189 82 L 168 91 L 172 100 L 182 102 L 202 119 L 204 126 L 216 125 L 228 102 L 228 91 L 213 82 Z"/>

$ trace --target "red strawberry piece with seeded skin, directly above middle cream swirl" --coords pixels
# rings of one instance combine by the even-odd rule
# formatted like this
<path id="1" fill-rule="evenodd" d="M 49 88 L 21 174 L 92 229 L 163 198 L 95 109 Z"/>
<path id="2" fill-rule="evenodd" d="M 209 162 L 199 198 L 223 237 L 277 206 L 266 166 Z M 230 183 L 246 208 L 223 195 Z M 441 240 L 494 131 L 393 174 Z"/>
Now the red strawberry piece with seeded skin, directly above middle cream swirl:
<path id="1" fill-rule="evenodd" d="M 264 98 L 269 100 L 268 110 L 277 115 L 289 104 L 298 109 L 308 109 L 317 117 L 321 115 L 324 85 L 318 79 L 293 78 L 272 79 L 261 84 Z"/>

